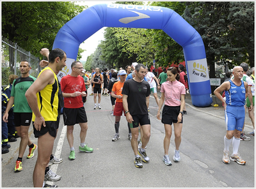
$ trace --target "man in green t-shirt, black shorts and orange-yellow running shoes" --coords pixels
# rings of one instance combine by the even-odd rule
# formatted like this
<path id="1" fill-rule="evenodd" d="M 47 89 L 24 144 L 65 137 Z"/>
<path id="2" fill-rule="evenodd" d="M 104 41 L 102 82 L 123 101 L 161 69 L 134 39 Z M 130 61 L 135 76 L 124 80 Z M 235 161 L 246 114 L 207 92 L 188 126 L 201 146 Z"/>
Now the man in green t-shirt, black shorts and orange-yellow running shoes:
<path id="1" fill-rule="evenodd" d="M 19 156 L 16 161 L 14 172 L 20 172 L 22 170 L 22 157 L 26 151 L 26 146 L 29 146 L 28 159 L 33 158 L 34 152 L 37 148 L 36 144 L 33 144 L 28 136 L 28 130 L 32 119 L 32 110 L 30 109 L 25 93 L 28 88 L 36 80 L 35 77 L 29 75 L 31 66 L 28 61 L 20 62 L 21 77 L 13 80 L 13 87 L 11 91 L 10 100 L 6 107 L 6 112 L 3 116 L 3 121 L 8 122 L 8 112 L 13 107 L 15 127 L 18 135 L 20 136 Z"/>

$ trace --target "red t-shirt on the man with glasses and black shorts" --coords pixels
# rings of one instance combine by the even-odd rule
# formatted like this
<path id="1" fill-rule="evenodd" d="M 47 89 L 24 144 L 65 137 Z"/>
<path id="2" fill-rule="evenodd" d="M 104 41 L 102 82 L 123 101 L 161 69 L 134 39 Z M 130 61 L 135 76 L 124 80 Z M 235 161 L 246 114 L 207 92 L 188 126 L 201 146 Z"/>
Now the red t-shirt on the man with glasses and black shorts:
<path id="1" fill-rule="evenodd" d="M 86 91 L 84 85 L 84 79 L 80 75 L 78 77 L 73 77 L 71 75 L 66 75 L 60 80 L 61 91 L 63 93 L 75 93 L 76 91 L 83 92 Z M 65 97 L 64 107 L 68 109 L 78 109 L 83 107 L 82 96 L 76 97 Z"/>

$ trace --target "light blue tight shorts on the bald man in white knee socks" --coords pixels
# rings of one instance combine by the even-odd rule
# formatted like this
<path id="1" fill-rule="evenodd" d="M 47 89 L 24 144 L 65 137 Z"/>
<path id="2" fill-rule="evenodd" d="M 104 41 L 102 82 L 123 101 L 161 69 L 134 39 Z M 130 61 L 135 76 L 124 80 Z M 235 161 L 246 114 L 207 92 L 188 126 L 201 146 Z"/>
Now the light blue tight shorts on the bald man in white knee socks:
<path id="1" fill-rule="evenodd" d="M 244 106 L 235 107 L 232 105 L 227 105 L 225 110 L 226 130 L 234 131 L 236 129 L 242 131 L 244 125 L 244 117 Z"/>

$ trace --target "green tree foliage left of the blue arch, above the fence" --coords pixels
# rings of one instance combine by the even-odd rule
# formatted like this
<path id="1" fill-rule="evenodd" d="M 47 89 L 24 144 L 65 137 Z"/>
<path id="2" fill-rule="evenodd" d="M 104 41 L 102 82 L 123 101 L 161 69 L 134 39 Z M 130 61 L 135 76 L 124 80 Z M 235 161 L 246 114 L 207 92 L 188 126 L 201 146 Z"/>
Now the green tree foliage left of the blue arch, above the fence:
<path id="1" fill-rule="evenodd" d="M 86 8 L 70 1 L 2 1 L 1 4 L 2 35 L 38 57 L 40 49 L 52 49 L 60 28 Z"/>

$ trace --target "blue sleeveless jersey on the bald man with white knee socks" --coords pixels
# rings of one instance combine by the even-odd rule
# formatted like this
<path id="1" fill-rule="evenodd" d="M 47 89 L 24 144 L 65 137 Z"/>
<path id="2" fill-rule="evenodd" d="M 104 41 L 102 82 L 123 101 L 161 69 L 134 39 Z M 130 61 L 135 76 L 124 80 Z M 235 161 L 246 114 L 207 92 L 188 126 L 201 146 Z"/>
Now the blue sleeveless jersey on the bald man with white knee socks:
<path id="1" fill-rule="evenodd" d="M 230 89 L 225 91 L 226 104 L 232 106 L 243 106 L 245 104 L 245 88 L 244 82 L 241 80 L 241 86 L 236 86 L 232 80 L 230 82 Z"/>

